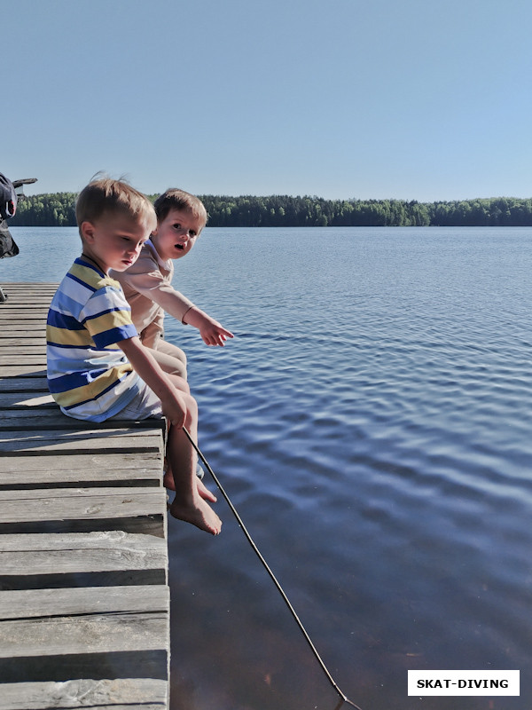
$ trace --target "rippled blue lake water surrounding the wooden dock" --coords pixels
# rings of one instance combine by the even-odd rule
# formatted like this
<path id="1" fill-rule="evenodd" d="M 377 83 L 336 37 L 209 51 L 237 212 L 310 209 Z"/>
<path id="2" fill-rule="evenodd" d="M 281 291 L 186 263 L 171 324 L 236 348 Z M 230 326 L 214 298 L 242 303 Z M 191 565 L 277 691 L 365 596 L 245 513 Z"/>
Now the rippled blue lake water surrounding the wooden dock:
<path id="1" fill-rule="evenodd" d="M 74 229 L 12 229 L 59 280 Z M 529 710 L 532 229 L 206 229 L 175 286 L 236 337 L 189 356 L 200 448 L 363 710 Z M 208 474 L 207 474 L 208 476 Z M 335 710 L 222 496 L 169 521 L 172 710 Z M 519 669 L 520 698 L 407 696 L 408 669 Z"/>

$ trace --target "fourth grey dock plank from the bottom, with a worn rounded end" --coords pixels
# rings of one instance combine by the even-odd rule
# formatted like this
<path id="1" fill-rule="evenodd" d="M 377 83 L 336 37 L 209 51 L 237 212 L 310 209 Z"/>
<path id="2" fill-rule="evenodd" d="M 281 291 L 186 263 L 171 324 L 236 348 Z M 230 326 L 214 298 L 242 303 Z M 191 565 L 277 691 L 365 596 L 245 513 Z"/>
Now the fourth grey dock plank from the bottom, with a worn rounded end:
<path id="1" fill-rule="evenodd" d="M 73 574 L 165 570 L 166 541 L 153 535 L 101 533 L 41 533 L 0 535 L 0 574 Z M 0 592 L 0 594 L 2 594 Z"/>

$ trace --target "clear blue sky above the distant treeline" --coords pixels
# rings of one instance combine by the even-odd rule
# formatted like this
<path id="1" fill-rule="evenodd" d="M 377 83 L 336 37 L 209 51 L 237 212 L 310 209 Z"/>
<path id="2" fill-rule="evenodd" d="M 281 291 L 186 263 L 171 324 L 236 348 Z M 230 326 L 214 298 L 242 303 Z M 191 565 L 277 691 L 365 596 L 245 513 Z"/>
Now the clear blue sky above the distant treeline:
<path id="1" fill-rule="evenodd" d="M 0 0 L 0 171 L 146 193 L 532 195 L 530 0 Z"/>

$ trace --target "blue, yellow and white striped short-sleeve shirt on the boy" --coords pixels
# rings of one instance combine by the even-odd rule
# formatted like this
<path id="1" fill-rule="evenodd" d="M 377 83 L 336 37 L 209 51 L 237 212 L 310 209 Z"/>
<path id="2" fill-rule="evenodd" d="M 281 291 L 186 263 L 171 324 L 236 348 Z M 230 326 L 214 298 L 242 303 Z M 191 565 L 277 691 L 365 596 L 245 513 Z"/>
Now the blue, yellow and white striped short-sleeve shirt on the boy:
<path id="1" fill-rule="evenodd" d="M 61 411 L 103 422 L 141 383 L 116 343 L 137 335 L 121 286 L 82 257 L 51 301 L 46 323 L 48 386 Z"/>

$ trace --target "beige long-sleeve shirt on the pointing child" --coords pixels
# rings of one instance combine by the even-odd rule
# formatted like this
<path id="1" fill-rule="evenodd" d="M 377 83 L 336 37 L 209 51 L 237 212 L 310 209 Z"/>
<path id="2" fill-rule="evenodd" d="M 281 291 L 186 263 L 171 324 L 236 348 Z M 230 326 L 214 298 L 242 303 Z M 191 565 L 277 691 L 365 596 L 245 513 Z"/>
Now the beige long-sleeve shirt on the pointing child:
<path id="1" fill-rule="evenodd" d="M 112 271 L 110 275 L 121 283 L 133 324 L 148 347 L 155 347 L 162 335 L 165 312 L 183 322 L 184 314 L 194 305 L 173 288 L 174 264 L 171 259 L 163 261 L 150 240 L 135 264 L 125 272 Z"/>

